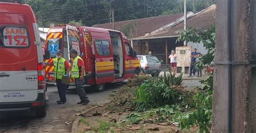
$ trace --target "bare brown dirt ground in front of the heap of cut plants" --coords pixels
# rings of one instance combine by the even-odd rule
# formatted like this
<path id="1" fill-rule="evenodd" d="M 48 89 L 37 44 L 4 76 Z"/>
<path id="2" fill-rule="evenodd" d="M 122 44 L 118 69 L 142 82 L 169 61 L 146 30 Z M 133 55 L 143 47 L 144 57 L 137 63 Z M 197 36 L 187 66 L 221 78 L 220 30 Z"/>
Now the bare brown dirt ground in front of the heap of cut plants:
<path id="1" fill-rule="evenodd" d="M 107 105 L 105 105 L 107 106 Z M 140 123 L 140 124 L 124 124 L 120 121 L 125 119 L 126 115 L 131 112 L 125 113 L 111 113 L 104 107 L 98 107 L 96 109 L 87 112 L 84 115 L 84 121 L 79 121 L 79 132 L 95 132 L 95 126 L 99 125 L 99 121 L 105 121 L 106 123 L 116 123 L 118 126 L 113 126 L 112 132 L 197 132 L 198 128 L 194 127 L 189 130 L 179 130 L 177 125 L 168 123 Z M 101 131 L 101 130 L 98 130 Z M 103 130 L 106 131 L 106 130 Z"/>

